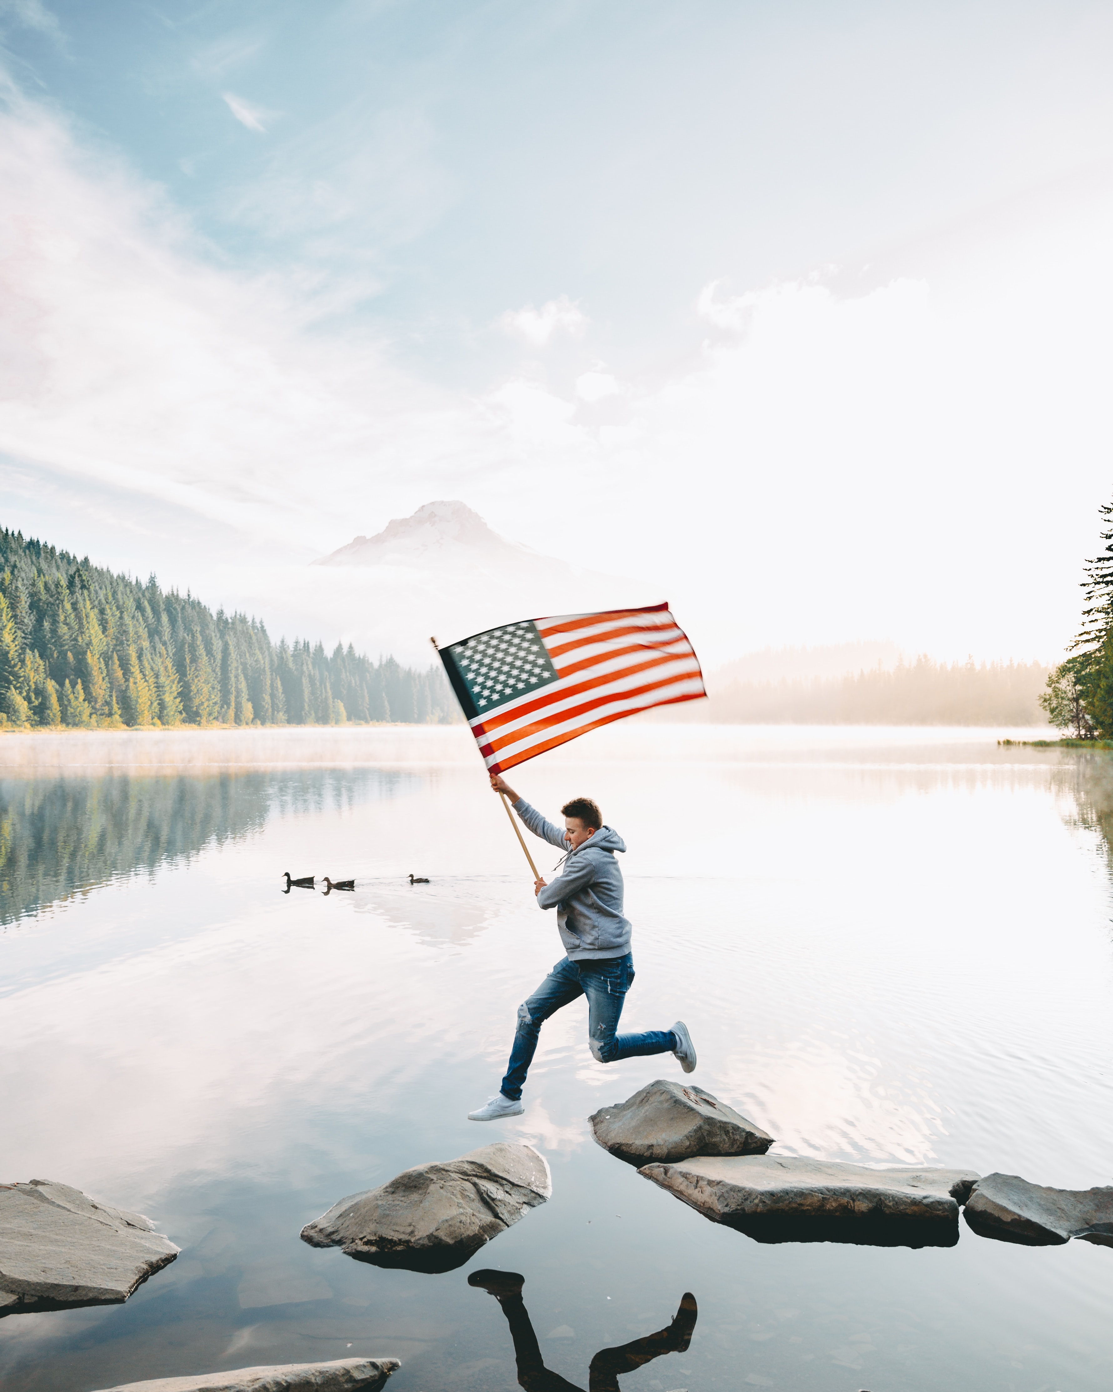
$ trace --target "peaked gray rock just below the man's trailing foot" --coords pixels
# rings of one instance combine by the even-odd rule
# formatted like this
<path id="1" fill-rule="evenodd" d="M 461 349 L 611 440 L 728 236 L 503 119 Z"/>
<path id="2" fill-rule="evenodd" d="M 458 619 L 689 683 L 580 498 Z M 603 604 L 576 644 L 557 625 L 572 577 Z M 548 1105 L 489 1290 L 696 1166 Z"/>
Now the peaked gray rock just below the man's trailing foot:
<path id="1" fill-rule="evenodd" d="M 591 1130 L 633 1165 L 693 1155 L 764 1155 L 774 1137 L 703 1087 L 658 1077 L 625 1102 L 602 1107 Z"/>

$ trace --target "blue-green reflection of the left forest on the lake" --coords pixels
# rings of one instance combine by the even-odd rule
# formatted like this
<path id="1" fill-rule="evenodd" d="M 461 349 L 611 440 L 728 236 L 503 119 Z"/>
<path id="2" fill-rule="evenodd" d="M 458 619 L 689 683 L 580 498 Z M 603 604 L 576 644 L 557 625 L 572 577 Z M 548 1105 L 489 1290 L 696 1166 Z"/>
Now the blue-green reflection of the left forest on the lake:
<path id="1" fill-rule="evenodd" d="M 0 780 L 0 923 L 117 876 L 252 835 L 270 813 L 391 796 L 412 774 L 374 768 Z"/>

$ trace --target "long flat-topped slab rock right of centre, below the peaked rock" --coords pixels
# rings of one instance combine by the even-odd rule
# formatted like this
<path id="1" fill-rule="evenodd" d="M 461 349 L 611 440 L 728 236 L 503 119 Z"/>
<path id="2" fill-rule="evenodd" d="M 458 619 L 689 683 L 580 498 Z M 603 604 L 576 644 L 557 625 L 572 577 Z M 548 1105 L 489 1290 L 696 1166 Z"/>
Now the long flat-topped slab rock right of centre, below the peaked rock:
<path id="1" fill-rule="evenodd" d="M 953 1246 L 968 1169 L 868 1169 L 792 1155 L 697 1155 L 640 1171 L 704 1218 L 760 1242 Z"/>

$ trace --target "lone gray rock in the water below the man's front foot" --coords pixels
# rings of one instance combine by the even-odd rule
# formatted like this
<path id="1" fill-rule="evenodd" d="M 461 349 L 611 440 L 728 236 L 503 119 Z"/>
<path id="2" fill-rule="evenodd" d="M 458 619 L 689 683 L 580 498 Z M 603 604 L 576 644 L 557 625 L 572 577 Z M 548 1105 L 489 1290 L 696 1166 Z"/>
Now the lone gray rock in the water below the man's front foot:
<path id="1" fill-rule="evenodd" d="M 377 1267 L 452 1271 L 551 1194 L 544 1155 L 498 1141 L 341 1199 L 302 1228 L 302 1242 Z"/>

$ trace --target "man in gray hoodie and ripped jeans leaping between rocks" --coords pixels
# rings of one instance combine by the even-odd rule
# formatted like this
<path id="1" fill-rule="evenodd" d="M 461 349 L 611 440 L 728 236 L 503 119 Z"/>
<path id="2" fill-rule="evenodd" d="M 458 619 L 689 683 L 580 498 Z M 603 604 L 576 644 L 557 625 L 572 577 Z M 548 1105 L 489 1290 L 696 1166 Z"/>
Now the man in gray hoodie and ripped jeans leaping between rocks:
<path id="1" fill-rule="evenodd" d="M 683 1020 L 671 1030 L 615 1033 L 634 980 L 632 928 L 622 913 L 622 870 L 615 860 L 615 852 L 625 851 L 626 842 L 611 827 L 604 827 L 600 809 L 590 798 L 573 798 L 563 805 L 565 830 L 561 831 L 497 774 L 491 774 L 491 788 L 511 799 L 513 810 L 536 837 L 565 852 L 563 869 L 554 884 L 537 880 L 533 892 L 538 908 L 556 909 L 556 928 L 566 956 L 518 1006 L 518 1031 L 502 1086 L 479 1111 L 469 1112 L 469 1119 L 493 1122 L 525 1112 L 522 1086 L 541 1025 L 580 995 L 587 997 L 587 1043 L 600 1063 L 646 1054 L 675 1054 L 680 1068 L 690 1073 L 696 1068 L 696 1050 Z"/>

